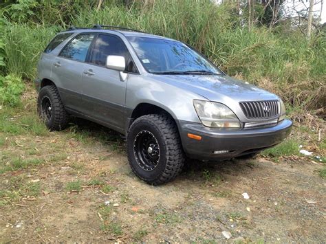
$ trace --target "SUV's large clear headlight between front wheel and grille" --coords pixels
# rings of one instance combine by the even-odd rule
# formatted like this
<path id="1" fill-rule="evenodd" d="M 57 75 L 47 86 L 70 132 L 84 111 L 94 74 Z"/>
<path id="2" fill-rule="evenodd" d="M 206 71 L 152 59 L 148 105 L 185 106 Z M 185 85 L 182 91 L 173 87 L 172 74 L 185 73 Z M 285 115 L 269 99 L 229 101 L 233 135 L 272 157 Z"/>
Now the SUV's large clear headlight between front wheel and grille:
<path id="1" fill-rule="evenodd" d="M 197 115 L 204 126 L 219 128 L 240 128 L 240 122 L 235 115 L 219 102 L 208 102 L 202 100 L 193 100 Z"/>

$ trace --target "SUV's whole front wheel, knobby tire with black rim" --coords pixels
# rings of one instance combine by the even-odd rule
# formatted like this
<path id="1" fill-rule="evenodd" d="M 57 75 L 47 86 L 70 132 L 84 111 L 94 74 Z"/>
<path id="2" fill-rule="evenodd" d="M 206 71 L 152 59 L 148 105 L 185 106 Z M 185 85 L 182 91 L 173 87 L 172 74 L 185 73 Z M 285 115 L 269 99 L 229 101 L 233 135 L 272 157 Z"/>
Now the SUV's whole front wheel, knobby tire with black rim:
<path id="1" fill-rule="evenodd" d="M 133 173 L 149 184 L 171 181 L 184 166 L 180 135 L 168 115 L 144 115 L 135 120 L 128 131 L 127 151 Z"/>

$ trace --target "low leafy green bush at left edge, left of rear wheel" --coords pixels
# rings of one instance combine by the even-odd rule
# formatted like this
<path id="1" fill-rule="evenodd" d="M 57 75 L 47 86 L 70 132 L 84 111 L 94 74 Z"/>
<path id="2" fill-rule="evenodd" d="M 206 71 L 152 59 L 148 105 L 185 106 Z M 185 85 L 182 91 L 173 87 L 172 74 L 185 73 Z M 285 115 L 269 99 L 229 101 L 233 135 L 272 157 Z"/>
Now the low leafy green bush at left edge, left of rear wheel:
<path id="1" fill-rule="evenodd" d="M 24 87 L 25 85 L 19 76 L 0 76 L 0 104 L 17 106 Z"/>

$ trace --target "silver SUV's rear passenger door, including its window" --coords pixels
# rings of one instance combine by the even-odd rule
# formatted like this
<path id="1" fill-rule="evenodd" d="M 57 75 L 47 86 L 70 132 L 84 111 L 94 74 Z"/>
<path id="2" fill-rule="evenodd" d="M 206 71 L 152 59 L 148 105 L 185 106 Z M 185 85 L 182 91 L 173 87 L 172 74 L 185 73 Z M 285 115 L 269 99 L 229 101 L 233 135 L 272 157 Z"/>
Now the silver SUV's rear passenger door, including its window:
<path id="1" fill-rule="evenodd" d="M 83 93 L 81 87 L 85 60 L 95 34 L 78 34 L 56 56 L 52 63 L 52 77 L 58 80 L 58 90 L 67 109 L 79 112 Z"/>

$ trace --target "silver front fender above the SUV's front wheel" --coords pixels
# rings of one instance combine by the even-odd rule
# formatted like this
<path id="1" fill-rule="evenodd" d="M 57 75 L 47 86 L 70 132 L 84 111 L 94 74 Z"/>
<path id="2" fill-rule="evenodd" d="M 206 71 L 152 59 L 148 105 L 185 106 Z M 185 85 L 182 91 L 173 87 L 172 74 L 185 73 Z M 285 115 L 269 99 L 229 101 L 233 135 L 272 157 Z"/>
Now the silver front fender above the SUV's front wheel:
<path id="1" fill-rule="evenodd" d="M 128 78 L 126 94 L 126 106 L 129 111 L 127 118 L 131 117 L 138 104 L 149 103 L 169 112 L 175 120 L 200 123 L 193 107 L 194 99 L 206 100 L 191 91 L 153 80 L 146 74 L 131 75 Z"/>

